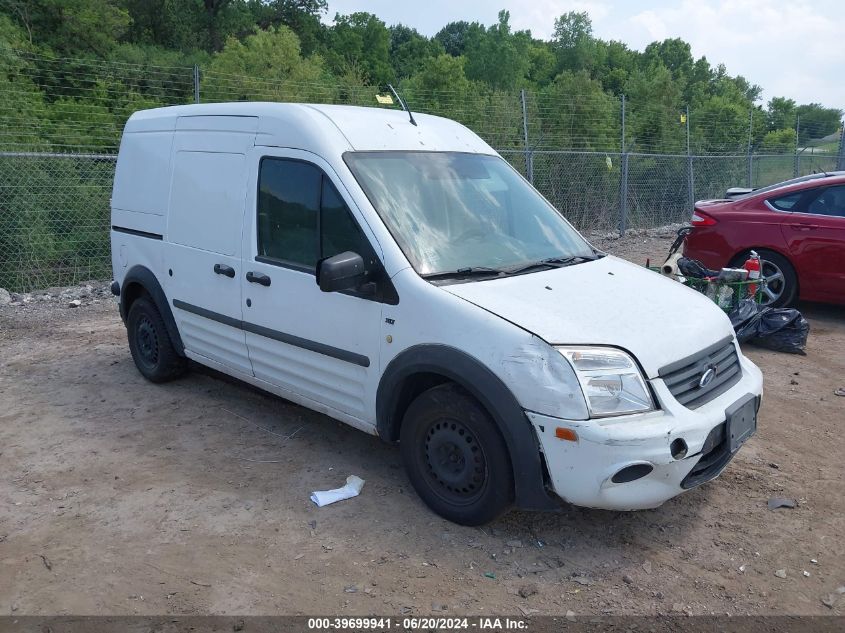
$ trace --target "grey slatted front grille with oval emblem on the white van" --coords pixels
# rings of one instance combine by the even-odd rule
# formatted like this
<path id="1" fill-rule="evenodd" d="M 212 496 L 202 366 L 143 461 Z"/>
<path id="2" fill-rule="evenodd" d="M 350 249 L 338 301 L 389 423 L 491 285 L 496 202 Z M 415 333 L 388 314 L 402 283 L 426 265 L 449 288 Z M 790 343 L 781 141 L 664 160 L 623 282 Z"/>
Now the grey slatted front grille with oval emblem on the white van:
<path id="1" fill-rule="evenodd" d="M 708 369 L 715 369 L 713 379 L 700 386 Z M 657 372 L 675 399 L 688 409 L 697 409 L 725 393 L 742 377 L 739 357 L 731 337 L 679 360 Z"/>

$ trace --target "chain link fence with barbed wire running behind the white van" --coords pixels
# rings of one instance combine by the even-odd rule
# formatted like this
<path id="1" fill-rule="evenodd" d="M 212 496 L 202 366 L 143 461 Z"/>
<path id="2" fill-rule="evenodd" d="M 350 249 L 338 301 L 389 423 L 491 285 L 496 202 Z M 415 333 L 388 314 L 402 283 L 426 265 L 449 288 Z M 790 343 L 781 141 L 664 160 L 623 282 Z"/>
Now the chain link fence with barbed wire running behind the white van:
<path id="1" fill-rule="evenodd" d="M 11 291 L 110 277 L 109 200 L 120 132 L 133 111 L 237 100 L 374 106 L 382 92 L 342 80 L 271 81 L 19 51 L 7 59 L 0 76 L 0 287 Z M 826 153 L 797 143 L 791 151 L 762 153 L 741 134 L 723 135 L 726 122 L 713 116 L 691 127 L 696 114 L 687 109 L 681 125 L 677 113 L 611 95 L 413 86 L 403 93 L 413 110 L 477 132 L 586 232 L 685 222 L 695 200 L 721 197 L 732 186 L 845 169 L 845 133 Z M 646 142 L 631 132 L 632 121 L 657 124 L 661 116 L 671 118 L 662 137 Z"/>

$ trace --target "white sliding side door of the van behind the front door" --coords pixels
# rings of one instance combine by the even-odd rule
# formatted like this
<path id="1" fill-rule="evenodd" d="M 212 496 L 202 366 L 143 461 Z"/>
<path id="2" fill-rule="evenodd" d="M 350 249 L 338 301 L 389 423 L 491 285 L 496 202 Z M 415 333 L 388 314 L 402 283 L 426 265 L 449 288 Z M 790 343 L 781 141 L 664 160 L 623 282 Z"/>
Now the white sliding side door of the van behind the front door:
<path id="1" fill-rule="evenodd" d="M 252 375 L 241 328 L 241 227 L 255 117 L 181 117 L 164 280 L 189 356 Z M 211 362 L 209 362 L 211 361 Z"/>

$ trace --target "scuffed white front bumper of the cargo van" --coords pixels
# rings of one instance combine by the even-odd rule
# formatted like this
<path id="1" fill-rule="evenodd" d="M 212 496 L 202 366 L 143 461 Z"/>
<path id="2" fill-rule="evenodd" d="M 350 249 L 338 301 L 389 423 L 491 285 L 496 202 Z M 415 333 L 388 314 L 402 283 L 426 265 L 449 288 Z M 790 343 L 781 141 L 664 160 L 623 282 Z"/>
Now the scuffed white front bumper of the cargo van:
<path id="1" fill-rule="evenodd" d="M 695 410 L 680 405 L 656 378 L 650 383 L 659 411 L 579 421 L 526 412 L 554 491 L 579 506 L 640 510 L 716 477 L 733 457 L 724 438 L 726 410 L 749 396 L 759 405 L 763 392 L 760 370 L 741 354 L 739 360 L 739 382 Z M 575 431 L 577 441 L 558 439 L 558 427 Z"/>

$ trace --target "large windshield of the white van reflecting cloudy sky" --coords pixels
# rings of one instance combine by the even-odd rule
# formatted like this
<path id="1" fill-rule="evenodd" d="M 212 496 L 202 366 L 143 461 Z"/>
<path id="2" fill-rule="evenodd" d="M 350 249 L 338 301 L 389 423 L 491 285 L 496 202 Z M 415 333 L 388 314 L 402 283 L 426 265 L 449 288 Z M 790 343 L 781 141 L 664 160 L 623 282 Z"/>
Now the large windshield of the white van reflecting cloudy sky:
<path id="1" fill-rule="evenodd" d="M 528 272 L 596 258 L 498 156 L 382 151 L 344 159 L 420 275 Z"/>

